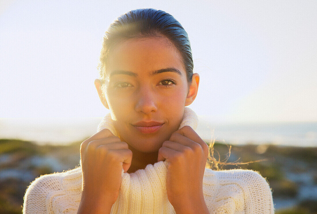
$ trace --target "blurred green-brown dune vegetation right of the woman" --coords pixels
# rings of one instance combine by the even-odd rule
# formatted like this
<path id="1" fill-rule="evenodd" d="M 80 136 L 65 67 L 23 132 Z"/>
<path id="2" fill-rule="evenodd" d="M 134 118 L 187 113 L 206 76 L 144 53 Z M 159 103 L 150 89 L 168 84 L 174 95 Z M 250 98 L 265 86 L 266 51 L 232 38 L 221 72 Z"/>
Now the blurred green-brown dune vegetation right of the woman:
<path id="1" fill-rule="evenodd" d="M 295 201 L 291 208 L 278 209 L 276 214 L 317 214 L 317 192 L 303 195 L 304 188 L 317 190 L 317 147 L 291 147 L 276 145 L 235 145 L 231 150 L 229 145 L 216 142 L 214 149 L 220 155 L 220 160 L 228 162 L 251 162 L 224 165 L 222 169 L 243 168 L 260 172 L 267 179 L 272 192 L 273 201 Z M 228 151 L 230 150 L 230 157 Z M 215 153 L 215 158 L 217 156 Z M 265 159 L 265 160 L 263 160 Z M 263 160 L 253 162 L 256 160 Z"/>

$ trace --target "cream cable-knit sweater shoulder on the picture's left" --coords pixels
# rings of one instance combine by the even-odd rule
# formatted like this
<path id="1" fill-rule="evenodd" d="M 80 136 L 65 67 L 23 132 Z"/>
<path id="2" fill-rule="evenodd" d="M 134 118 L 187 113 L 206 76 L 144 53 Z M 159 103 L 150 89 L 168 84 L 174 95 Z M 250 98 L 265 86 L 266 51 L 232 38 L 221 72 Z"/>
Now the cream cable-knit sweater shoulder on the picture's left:
<path id="1" fill-rule="evenodd" d="M 23 213 L 76 213 L 81 182 L 80 167 L 38 177 L 26 190 Z"/>

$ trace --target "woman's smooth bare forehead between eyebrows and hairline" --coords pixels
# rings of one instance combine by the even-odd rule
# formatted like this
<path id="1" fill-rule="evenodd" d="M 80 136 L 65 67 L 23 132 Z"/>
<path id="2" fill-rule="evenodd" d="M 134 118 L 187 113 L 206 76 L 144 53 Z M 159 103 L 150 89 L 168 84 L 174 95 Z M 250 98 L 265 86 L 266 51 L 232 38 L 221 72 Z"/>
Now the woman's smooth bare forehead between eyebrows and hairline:
<path id="1" fill-rule="evenodd" d="M 133 38 L 113 46 L 106 72 L 126 70 L 150 72 L 174 67 L 185 74 L 184 63 L 177 48 L 165 37 Z"/>

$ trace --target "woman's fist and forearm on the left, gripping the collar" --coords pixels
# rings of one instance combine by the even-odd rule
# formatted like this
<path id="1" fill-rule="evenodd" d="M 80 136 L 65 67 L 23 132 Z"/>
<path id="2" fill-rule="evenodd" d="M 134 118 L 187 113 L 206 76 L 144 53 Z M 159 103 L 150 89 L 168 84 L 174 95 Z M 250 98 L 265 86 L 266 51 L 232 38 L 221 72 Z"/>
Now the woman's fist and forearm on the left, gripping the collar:
<path id="1" fill-rule="evenodd" d="M 131 166 L 132 151 L 108 129 L 103 129 L 81 144 L 83 174 L 78 213 L 110 213 L 117 200 L 122 169 Z"/>

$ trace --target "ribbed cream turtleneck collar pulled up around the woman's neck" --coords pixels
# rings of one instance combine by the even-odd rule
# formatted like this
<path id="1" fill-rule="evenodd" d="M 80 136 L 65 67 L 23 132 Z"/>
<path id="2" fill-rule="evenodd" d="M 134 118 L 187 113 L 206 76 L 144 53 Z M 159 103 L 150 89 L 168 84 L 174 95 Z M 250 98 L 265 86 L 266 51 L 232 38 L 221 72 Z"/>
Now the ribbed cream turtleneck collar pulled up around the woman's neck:
<path id="1" fill-rule="evenodd" d="M 185 107 L 179 129 L 189 125 L 195 130 L 197 124 L 196 113 Z M 110 114 L 107 114 L 98 125 L 97 131 L 102 129 L 109 129 L 118 136 Z M 153 208 L 159 208 L 159 213 L 172 213 L 173 206 L 168 201 L 166 193 L 166 175 L 166 162 L 163 161 L 148 164 L 145 169 L 139 169 L 131 174 L 124 173 L 122 169 L 120 193 L 111 213 L 156 213 Z"/>

